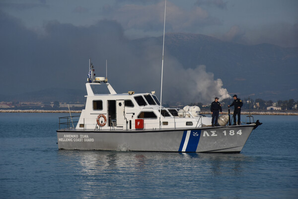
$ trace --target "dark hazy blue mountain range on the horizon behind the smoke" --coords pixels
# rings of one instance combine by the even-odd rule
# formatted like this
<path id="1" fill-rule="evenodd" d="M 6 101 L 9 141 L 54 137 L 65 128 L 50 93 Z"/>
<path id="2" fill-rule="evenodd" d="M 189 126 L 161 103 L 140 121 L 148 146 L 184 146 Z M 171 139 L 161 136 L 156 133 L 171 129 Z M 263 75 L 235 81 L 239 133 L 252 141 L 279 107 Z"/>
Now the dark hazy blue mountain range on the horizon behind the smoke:
<path id="1" fill-rule="evenodd" d="M 136 51 L 150 43 L 162 44 L 162 36 L 129 40 Z M 223 88 L 229 94 L 237 94 L 240 98 L 298 100 L 298 48 L 244 45 L 201 34 L 167 33 L 166 56 L 175 58 L 184 69 L 205 65 L 215 80 L 223 81 Z M 0 101 L 84 102 L 84 95 L 82 90 L 54 88 L 0 95 Z"/>

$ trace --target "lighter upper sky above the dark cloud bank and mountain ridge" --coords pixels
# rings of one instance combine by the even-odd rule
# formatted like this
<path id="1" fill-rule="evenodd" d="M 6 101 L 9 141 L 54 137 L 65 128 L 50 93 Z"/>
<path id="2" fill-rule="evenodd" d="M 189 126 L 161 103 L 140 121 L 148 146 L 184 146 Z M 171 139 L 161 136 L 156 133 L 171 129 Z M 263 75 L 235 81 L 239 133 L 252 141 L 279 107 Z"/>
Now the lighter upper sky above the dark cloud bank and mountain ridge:
<path id="1" fill-rule="evenodd" d="M 116 20 L 128 38 L 160 36 L 163 0 L 1 0 L 0 9 L 40 34 L 57 20 L 90 26 Z M 167 32 L 248 44 L 298 46 L 298 0 L 168 0 Z"/>

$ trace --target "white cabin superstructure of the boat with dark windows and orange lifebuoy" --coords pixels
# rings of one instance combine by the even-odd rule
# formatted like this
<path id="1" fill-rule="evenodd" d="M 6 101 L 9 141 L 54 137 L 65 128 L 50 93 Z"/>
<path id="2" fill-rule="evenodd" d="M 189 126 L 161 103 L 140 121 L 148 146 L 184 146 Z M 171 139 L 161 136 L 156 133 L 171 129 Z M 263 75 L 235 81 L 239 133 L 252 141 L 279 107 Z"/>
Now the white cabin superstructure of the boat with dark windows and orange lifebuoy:
<path id="1" fill-rule="evenodd" d="M 110 94 L 94 94 L 92 86 L 106 86 Z M 176 108 L 164 108 L 151 93 L 117 94 L 112 86 L 104 82 L 86 83 L 87 96 L 77 130 L 135 130 L 194 128 L 211 125 L 211 118 Z M 198 108 L 198 107 L 197 107 Z M 160 121 L 160 122 L 159 122 Z"/>

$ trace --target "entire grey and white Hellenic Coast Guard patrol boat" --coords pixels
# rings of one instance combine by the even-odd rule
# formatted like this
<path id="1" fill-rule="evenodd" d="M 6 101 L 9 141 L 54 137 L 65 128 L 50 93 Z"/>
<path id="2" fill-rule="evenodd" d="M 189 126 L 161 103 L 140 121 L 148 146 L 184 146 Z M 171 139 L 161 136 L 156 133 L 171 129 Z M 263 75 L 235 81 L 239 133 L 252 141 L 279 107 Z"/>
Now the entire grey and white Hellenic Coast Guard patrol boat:
<path id="1" fill-rule="evenodd" d="M 198 106 L 165 108 L 154 92 L 117 94 L 106 77 L 95 77 L 90 61 L 89 69 L 85 109 L 79 118 L 59 119 L 59 149 L 240 153 L 260 124 L 231 126 L 228 115 L 221 115 L 221 126 L 212 127 Z M 95 94 L 98 86 L 108 94 Z"/>

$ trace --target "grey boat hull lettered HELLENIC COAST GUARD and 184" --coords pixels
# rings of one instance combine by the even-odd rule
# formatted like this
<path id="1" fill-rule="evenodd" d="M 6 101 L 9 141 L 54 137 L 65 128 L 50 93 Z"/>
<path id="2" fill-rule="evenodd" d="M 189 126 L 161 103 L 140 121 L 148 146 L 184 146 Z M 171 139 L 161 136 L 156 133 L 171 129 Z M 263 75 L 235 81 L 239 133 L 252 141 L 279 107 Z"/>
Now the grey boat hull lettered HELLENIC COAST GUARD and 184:
<path id="1" fill-rule="evenodd" d="M 57 130 L 57 136 L 58 148 L 65 150 L 239 153 L 254 126 L 131 131 Z"/>

